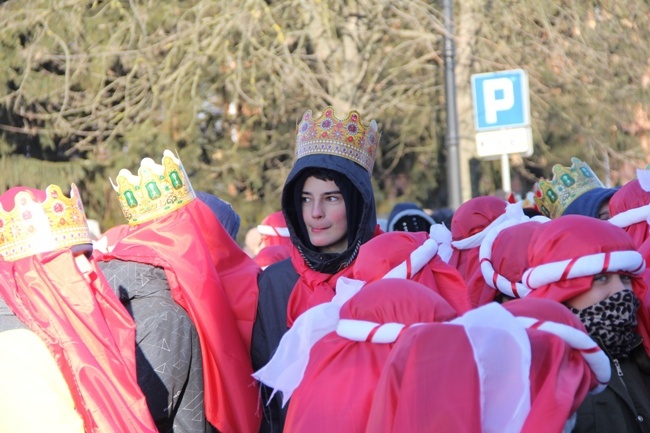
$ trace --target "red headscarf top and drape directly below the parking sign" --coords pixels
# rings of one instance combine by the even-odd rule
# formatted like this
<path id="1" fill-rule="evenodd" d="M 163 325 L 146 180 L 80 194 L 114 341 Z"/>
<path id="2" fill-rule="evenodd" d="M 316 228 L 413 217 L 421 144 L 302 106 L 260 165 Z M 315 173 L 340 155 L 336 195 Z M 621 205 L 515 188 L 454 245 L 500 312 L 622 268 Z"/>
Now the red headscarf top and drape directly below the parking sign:
<path id="1" fill-rule="evenodd" d="M 460 205 L 451 219 L 452 241 L 463 240 L 482 232 L 492 221 L 505 213 L 507 204 L 505 200 L 499 197 L 482 196 L 475 197 Z M 460 275 L 467 282 L 473 307 L 479 305 L 481 292 L 483 291 L 478 253 L 479 247 L 467 250 L 453 248 L 449 259 L 449 264 L 458 269 Z"/>

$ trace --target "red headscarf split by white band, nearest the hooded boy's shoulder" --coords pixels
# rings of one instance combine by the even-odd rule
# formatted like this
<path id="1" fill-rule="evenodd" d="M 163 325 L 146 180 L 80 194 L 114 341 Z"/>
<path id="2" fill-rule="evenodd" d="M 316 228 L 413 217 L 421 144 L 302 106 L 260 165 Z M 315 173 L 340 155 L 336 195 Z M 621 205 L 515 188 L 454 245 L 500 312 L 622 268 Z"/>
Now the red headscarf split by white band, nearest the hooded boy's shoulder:
<path id="1" fill-rule="evenodd" d="M 359 256 L 354 262 L 352 278 L 366 283 L 382 278 L 405 261 L 428 238 L 429 235 L 426 232 L 401 231 L 387 232 L 376 236 L 359 249 Z M 467 287 L 462 277 L 456 269 L 443 262 L 438 255 L 411 279 L 440 294 L 458 314 L 471 308 Z"/>

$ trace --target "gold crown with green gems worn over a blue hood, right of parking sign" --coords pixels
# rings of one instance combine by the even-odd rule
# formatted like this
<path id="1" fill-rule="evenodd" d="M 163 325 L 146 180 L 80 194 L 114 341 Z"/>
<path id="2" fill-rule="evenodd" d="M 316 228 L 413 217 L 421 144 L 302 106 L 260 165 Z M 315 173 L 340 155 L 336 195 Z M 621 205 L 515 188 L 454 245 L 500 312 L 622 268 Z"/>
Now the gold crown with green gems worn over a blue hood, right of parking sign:
<path id="1" fill-rule="evenodd" d="M 535 204 L 547 217 L 561 216 L 580 195 L 594 188 L 604 188 L 589 164 L 571 158 L 571 167 L 553 166 L 553 179 L 540 179 L 535 185 Z"/>

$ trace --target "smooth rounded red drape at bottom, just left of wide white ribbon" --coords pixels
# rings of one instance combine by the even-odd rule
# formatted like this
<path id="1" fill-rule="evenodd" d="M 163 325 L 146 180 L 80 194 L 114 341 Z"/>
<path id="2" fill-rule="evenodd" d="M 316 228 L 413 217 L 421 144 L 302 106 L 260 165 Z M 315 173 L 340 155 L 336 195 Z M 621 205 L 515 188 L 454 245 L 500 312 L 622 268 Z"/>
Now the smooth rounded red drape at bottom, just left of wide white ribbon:
<path id="1" fill-rule="evenodd" d="M 378 381 L 367 433 L 482 433 L 480 382 L 461 326 L 409 329 Z"/>

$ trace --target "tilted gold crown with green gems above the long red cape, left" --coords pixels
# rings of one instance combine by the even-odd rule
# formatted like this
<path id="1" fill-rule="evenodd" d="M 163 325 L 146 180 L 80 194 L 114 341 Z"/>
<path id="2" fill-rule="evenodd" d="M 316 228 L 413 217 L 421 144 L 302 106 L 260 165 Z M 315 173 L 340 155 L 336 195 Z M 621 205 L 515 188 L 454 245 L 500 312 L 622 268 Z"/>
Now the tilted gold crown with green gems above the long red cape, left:
<path id="1" fill-rule="evenodd" d="M 162 165 L 144 158 L 137 176 L 123 168 L 111 185 L 132 226 L 167 215 L 196 198 L 180 158 L 170 150 L 164 151 Z"/>

